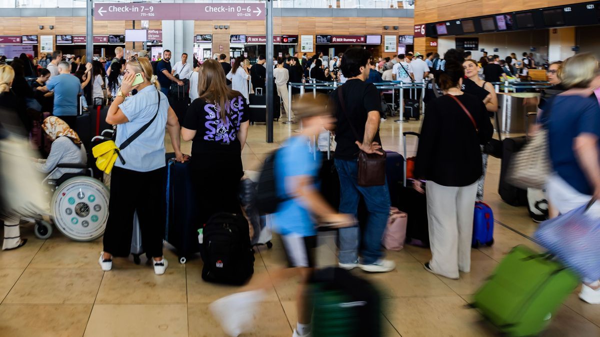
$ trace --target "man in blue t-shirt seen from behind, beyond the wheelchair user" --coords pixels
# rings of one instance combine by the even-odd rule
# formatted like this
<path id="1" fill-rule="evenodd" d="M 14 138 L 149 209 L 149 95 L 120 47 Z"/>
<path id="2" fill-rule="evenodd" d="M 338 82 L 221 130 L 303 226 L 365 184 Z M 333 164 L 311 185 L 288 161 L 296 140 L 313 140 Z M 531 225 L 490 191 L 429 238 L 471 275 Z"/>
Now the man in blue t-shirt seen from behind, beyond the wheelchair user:
<path id="1" fill-rule="evenodd" d="M 73 128 L 77 116 L 77 98 L 82 93 L 81 83 L 76 76 L 70 74 L 68 62 L 60 62 L 58 72 L 58 76 L 51 77 L 46 86 L 38 88 L 38 90 L 42 92 L 54 91 L 52 115 L 61 118 Z"/>

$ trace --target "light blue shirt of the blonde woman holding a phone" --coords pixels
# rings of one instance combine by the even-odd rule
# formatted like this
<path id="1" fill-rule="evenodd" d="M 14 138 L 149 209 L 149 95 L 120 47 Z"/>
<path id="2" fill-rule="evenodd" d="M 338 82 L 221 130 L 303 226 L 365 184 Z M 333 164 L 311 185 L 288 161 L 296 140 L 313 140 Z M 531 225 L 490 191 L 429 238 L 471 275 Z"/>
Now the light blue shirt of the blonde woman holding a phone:
<path id="1" fill-rule="evenodd" d="M 160 95 L 160 110 L 154 122 L 136 140 L 121 151 L 125 165 L 117 159 L 115 166 L 122 169 L 149 172 L 164 167 L 164 128 L 167 125 L 169 101 L 154 85 L 146 86 L 136 95 L 125 98 L 119 105 L 129 122 L 119 124 L 116 129 L 116 146 L 121 146 L 137 130 L 149 122 L 158 109 Z"/>

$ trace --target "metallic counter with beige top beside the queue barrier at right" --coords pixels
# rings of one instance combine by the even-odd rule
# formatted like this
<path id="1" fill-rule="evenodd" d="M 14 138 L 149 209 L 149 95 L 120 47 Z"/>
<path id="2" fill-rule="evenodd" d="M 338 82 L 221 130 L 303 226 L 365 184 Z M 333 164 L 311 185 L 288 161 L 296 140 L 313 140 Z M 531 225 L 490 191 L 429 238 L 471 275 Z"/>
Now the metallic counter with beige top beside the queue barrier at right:
<path id="1" fill-rule="evenodd" d="M 498 122 L 501 133 L 525 133 L 527 113 L 538 111 L 539 93 L 510 92 L 498 94 Z"/>

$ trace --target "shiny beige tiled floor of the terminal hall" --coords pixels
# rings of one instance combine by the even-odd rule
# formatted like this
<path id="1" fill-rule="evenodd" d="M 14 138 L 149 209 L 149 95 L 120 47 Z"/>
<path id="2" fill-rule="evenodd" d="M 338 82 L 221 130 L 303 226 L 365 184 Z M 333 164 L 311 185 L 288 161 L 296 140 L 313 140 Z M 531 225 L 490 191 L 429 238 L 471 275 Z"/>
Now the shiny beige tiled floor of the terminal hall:
<path id="1" fill-rule="evenodd" d="M 265 126 L 254 125 L 242 154 L 244 169 L 259 170 L 266 154 L 280 146 L 297 125 L 275 124 L 275 143 L 265 142 Z M 385 149 L 402 151 L 403 131 L 418 131 L 418 122 L 382 123 Z M 416 139 L 407 140 L 409 155 Z M 185 143 L 189 153 L 191 143 Z M 485 200 L 497 221 L 492 247 L 472 251 L 472 271 L 459 280 L 439 278 L 422 268 L 431 257 L 428 249 L 406 246 L 388 252 L 397 269 L 368 275 L 382 290 L 382 322 L 385 336 L 495 336 L 493 327 L 466 307 L 470 294 L 513 246 L 535 246 L 526 236 L 536 229 L 524 207 L 503 203 L 497 194 L 500 161 L 490 158 Z M 510 227 L 519 233 L 511 230 Z M 199 258 L 179 264 L 176 254 L 165 249 L 170 261 L 166 275 L 156 276 L 145 263 L 117 259 L 111 272 L 97 265 L 102 249 L 95 242 L 74 242 L 56 233 L 38 240 L 31 225 L 23 227 L 29 238 L 25 247 L 0 252 L 0 336 L 224 336 L 208 311 L 213 300 L 238 288 L 202 281 Z M 269 275 L 284 266 L 277 237 L 274 248 L 257 249 L 256 275 Z M 335 264 L 335 243 L 320 237 L 318 262 Z M 145 261 L 145 258 L 142 258 Z M 295 279 L 274 285 L 260 303 L 254 329 L 245 336 L 291 336 L 296 324 Z M 544 336 L 600 336 L 600 306 L 587 305 L 572 294 L 560 308 Z"/>

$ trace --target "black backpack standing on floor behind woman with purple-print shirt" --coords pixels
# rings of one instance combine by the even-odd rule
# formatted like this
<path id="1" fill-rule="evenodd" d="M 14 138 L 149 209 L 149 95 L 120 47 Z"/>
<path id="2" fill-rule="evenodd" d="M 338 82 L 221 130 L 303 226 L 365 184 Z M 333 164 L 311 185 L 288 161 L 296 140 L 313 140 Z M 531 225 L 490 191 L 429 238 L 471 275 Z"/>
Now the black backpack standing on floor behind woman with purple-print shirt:
<path id="1" fill-rule="evenodd" d="M 202 279 L 242 285 L 254 273 L 248 221 L 242 214 L 216 213 L 203 230 Z"/>

